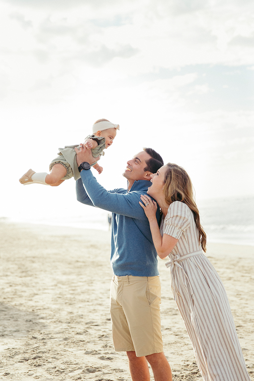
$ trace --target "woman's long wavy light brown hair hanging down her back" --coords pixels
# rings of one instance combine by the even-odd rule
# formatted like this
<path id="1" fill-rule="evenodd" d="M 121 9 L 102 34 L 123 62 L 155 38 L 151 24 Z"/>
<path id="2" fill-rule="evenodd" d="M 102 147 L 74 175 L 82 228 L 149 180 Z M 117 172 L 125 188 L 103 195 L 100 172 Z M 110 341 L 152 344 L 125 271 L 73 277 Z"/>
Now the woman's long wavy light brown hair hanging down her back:
<path id="1" fill-rule="evenodd" d="M 203 251 L 206 252 L 206 234 L 200 224 L 200 216 L 194 200 L 191 179 L 184 168 L 179 165 L 168 163 L 167 166 L 168 168 L 164 178 L 164 195 L 166 203 L 170 205 L 174 201 L 181 201 L 192 210 L 196 227 L 199 231 L 198 239 Z"/>

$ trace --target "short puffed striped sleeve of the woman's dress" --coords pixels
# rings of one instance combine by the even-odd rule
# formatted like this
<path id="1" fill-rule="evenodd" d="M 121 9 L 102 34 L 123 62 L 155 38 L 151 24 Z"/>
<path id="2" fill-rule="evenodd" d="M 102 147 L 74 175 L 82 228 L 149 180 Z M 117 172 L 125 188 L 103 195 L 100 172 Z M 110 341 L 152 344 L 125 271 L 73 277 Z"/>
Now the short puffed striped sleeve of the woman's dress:
<path id="1" fill-rule="evenodd" d="M 191 216 L 187 205 L 180 201 L 173 202 L 168 208 L 163 234 L 179 239 L 182 233 L 190 227 Z"/>

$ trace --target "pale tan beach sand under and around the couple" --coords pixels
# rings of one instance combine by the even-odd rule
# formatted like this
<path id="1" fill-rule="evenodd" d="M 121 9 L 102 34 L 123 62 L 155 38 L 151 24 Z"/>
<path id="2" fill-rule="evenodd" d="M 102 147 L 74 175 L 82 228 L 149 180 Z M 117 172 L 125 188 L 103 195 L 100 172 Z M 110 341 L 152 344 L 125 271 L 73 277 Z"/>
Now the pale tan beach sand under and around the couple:
<path id="1" fill-rule="evenodd" d="M 0 230 L 0 379 L 130 381 L 126 355 L 114 352 L 111 338 L 110 233 L 10 223 Z M 253 254 L 254 247 L 216 243 L 207 252 L 227 290 L 251 380 Z M 173 380 L 201 380 L 169 270 L 165 261 L 158 263 L 164 351 Z"/>

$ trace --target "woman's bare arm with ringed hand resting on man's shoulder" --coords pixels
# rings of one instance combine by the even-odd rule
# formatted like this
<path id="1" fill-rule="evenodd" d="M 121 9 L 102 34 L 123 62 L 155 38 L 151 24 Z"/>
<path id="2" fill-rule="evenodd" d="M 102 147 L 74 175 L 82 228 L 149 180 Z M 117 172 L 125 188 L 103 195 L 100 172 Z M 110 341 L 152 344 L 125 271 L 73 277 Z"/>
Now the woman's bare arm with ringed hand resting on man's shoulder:
<path id="1" fill-rule="evenodd" d="M 140 198 L 144 202 L 144 204 L 142 204 L 139 201 L 139 205 L 141 205 L 141 207 L 144 209 L 145 215 L 149 220 L 153 244 L 155 246 L 158 256 L 161 259 L 164 259 L 167 255 L 169 255 L 169 253 L 171 253 L 176 243 L 178 242 L 178 239 L 171 237 L 171 235 L 168 234 L 163 234 L 163 237 L 161 237 L 160 229 L 156 219 L 156 202 L 151 200 L 150 197 L 146 195 L 143 195 Z M 145 204 L 147 203 L 148 205 L 145 206 Z"/>

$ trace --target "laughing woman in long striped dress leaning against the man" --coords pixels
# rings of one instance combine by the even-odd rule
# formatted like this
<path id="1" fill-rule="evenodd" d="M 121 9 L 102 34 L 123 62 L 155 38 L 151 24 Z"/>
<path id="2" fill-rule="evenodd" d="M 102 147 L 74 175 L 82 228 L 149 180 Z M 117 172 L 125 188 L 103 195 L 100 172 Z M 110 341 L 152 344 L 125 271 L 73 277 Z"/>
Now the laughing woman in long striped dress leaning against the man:
<path id="1" fill-rule="evenodd" d="M 153 243 L 171 271 L 171 288 L 192 341 L 205 381 L 249 381 L 225 288 L 204 256 L 206 234 L 200 225 L 192 182 L 186 171 L 168 163 L 152 176 L 147 194 L 157 200 L 163 218 L 156 220 L 156 202 L 139 202 L 149 219 Z M 203 251 L 202 251 L 203 249 Z"/>

